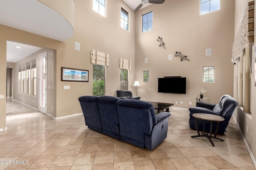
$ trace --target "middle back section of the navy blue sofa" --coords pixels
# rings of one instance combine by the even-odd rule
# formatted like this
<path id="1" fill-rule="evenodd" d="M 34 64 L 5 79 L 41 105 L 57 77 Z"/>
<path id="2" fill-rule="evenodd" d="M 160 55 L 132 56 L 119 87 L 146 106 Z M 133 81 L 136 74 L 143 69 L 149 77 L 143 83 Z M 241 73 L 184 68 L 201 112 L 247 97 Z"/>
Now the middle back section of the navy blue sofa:
<path id="1" fill-rule="evenodd" d="M 119 122 L 116 102 L 121 100 L 114 96 L 100 96 L 98 106 L 100 111 L 100 124 L 103 129 L 112 133 L 119 134 Z"/>

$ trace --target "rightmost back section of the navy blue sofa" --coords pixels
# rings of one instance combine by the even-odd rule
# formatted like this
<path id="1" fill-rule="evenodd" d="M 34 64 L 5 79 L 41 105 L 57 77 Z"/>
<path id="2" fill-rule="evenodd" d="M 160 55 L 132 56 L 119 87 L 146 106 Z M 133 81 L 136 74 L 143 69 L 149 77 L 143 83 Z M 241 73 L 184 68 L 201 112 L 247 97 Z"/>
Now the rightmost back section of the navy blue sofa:
<path id="1" fill-rule="evenodd" d="M 157 123 L 154 106 L 142 100 L 121 99 L 116 102 L 120 135 L 144 143 Z"/>

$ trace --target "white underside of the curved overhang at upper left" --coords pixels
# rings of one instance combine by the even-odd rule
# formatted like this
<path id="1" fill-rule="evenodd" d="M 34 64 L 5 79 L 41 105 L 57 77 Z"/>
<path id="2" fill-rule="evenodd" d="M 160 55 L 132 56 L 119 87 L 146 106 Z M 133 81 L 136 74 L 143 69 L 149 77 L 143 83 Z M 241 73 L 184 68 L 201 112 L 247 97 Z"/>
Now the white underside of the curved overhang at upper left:
<path id="1" fill-rule="evenodd" d="M 38 0 L 0 1 L 0 24 L 58 41 L 74 35 L 74 28 L 66 18 Z"/>

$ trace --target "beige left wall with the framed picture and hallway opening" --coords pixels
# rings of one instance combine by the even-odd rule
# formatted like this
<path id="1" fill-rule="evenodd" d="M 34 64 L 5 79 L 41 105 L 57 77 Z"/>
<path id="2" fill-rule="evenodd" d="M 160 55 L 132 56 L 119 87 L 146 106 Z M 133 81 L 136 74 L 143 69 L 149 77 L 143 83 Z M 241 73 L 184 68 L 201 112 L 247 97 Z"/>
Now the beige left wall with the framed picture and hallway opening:
<path id="1" fill-rule="evenodd" d="M 122 0 L 107 1 L 107 18 L 92 10 L 92 1 L 76 0 L 74 5 L 74 36 L 65 42 L 0 25 L 1 77 L 6 77 L 6 40 L 56 50 L 56 65 L 55 70 L 52 70 L 56 76 L 56 117 L 81 113 L 78 97 L 92 95 L 92 49 L 110 55 L 110 66 L 106 69 L 106 95 L 116 96 L 116 90 L 120 88 L 120 57 L 132 61 L 129 88 L 134 91 L 135 14 Z M 130 14 L 130 31 L 120 27 L 121 7 Z M 80 51 L 74 50 L 75 42 L 80 43 Z M 89 82 L 60 81 L 62 66 L 89 70 Z M 64 90 L 65 85 L 69 85 L 70 90 Z M 6 83 L 1 84 L 0 94 L 6 94 Z M 0 128 L 6 127 L 5 107 L 6 101 L 0 100 Z"/>

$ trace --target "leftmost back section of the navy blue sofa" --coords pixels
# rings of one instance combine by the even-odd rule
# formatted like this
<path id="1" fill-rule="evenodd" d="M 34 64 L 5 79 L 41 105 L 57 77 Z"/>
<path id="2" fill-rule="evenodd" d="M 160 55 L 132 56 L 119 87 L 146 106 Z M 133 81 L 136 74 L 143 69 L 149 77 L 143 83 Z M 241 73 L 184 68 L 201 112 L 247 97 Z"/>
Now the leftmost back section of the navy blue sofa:
<path id="1" fill-rule="evenodd" d="M 98 98 L 98 96 L 81 96 L 78 100 L 84 114 L 85 124 L 101 128 Z"/>

